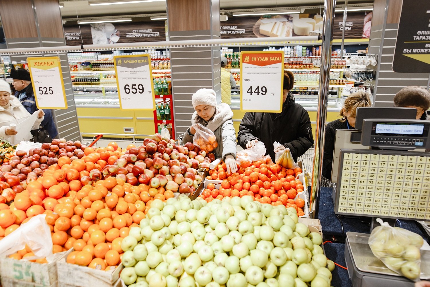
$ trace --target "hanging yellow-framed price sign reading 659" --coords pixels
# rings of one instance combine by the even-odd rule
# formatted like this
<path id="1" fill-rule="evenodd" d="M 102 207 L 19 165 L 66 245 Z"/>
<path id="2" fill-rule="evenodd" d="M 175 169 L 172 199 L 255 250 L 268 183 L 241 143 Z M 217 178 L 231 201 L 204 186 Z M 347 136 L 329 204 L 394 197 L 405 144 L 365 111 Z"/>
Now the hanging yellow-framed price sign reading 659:
<path id="1" fill-rule="evenodd" d="M 155 110 L 151 57 L 148 54 L 114 56 L 122 110 Z"/>

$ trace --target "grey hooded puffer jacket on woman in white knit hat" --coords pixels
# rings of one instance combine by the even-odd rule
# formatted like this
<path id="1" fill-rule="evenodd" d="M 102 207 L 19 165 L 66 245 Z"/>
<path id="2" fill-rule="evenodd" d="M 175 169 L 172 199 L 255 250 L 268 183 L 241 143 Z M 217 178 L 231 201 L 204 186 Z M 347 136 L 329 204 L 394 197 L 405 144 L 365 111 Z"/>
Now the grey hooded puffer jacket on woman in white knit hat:
<path id="1" fill-rule="evenodd" d="M 233 111 L 230 106 L 223 103 L 216 107 L 215 115 L 209 122 L 203 120 L 195 111 L 191 118 L 192 124 L 200 123 L 207 127 L 209 130 L 214 132 L 218 147 L 212 151 L 215 154 L 215 158 L 225 157 L 229 154 L 236 158 L 236 131 L 233 126 Z M 193 136 L 190 133 L 190 128 L 185 132 L 184 143 L 193 142 Z"/>

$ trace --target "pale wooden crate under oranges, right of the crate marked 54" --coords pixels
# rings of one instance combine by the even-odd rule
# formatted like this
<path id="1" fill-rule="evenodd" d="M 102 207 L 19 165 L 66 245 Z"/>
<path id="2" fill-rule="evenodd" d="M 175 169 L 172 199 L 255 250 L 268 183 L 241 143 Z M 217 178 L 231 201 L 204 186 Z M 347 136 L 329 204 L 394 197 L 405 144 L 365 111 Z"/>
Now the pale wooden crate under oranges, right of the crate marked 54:
<path id="1" fill-rule="evenodd" d="M 121 286 L 118 283 L 123 265 L 119 265 L 114 271 L 92 269 L 66 262 L 62 258 L 57 262 L 58 287 L 113 287 Z M 120 284 L 120 285 L 118 285 Z"/>

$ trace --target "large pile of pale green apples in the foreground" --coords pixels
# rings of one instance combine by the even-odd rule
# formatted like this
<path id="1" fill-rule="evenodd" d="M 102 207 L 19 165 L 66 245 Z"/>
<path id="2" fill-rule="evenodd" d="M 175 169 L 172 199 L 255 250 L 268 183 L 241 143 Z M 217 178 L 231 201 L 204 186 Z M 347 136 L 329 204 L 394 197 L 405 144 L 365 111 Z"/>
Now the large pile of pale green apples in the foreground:
<path id="1" fill-rule="evenodd" d="M 335 265 L 321 244 L 294 208 L 181 194 L 154 200 L 130 229 L 120 278 L 129 287 L 329 287 Z"/>

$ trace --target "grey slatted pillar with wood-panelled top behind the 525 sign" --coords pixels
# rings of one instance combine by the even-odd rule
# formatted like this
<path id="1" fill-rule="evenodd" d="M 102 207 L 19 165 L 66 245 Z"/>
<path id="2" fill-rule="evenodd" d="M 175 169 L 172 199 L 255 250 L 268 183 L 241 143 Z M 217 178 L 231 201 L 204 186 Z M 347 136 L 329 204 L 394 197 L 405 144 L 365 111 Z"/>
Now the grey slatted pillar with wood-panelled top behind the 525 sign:
<path id="1" fill-rule="evenodd" d="M 17 21 L 17 13 L 25 15 L 25 17 L 20 17 L 19 21 Z M 65 46 L 58 0 L 25 0 L 20 1 L 18 5 L 14 1 L 0 0 L 0 17 L 9 49 Z M 49 55 L 35 54 L 33 56 L 55 56 L 60 58 L 63 83 L 57 84 L 64 84 L 66 107 L 68 108 L 54 108 L 52 109 L 52 115 L 58 129 L 58 137 L 72 141 L 80 140 L 81 136 L 74 105 L 67 55 L 57 52 Z M 26 61 L 26 58 L 22 53 L 19 56 L 11 55 L 11 60 L 18 63 Z M 12 79 L 6 77 L 6 81 L 11 83 Z"/>

